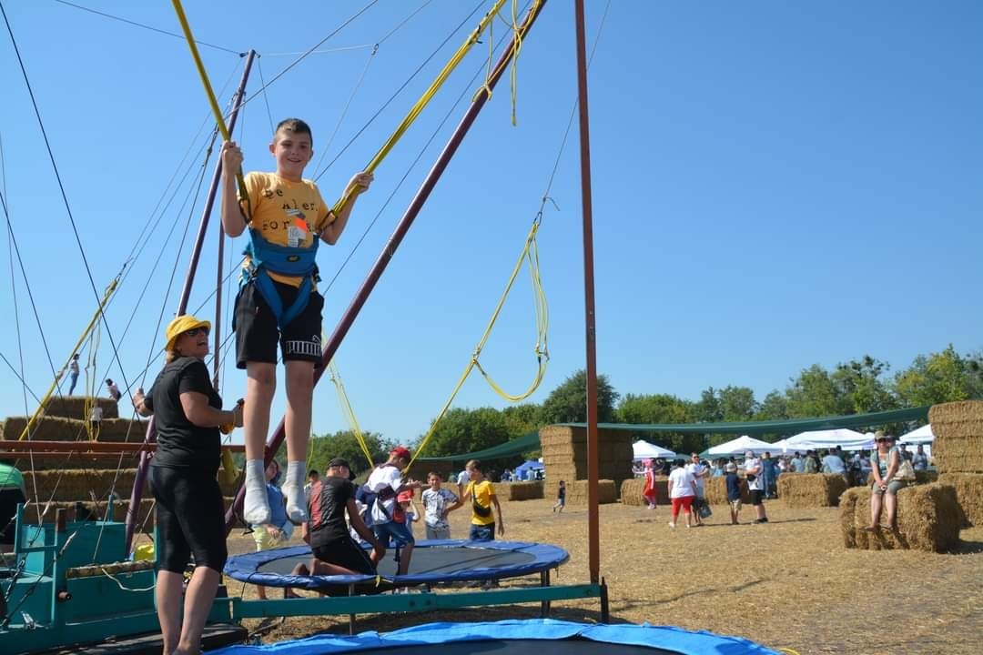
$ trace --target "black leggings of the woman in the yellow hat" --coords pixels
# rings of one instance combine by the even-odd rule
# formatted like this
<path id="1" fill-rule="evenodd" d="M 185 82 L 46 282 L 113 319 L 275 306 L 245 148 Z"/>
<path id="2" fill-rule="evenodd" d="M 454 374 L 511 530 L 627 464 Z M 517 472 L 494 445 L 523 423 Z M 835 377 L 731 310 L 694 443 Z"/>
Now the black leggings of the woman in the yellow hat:
<path id="1" fill-rule="evenodd" d="M 192 554 L 196 567 L 225 567 L 225 510 L 214 474 L 193 468 L 150 466 L 157 500 L 157 567 L 184 573 Z"/>

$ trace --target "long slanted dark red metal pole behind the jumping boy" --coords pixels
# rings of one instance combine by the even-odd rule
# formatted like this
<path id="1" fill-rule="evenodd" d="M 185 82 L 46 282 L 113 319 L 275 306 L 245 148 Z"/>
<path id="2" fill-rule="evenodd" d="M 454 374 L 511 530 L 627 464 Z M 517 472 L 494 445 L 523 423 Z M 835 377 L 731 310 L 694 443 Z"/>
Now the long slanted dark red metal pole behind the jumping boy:
<path id="1" fill-rule="evenodd" d="M 520 37 L 525 38 L 526 32 L 532 27 L 536 18 L 540 15 L 543 6 L 546 4 L 546 0 L 535 3 L 530 9 L 529 13 L 526 14 L 526 19 L 522 22 L 519 27 Z M 508 61 L 512 58 L 515 52 L 515 41 L 502 53 L 501 58 L 498 60 L 498 64 L 492 70 L 492 77 L 488 80 L 488 88 L 494 88 L 496 82 L 501 78 L 502 73 L 504 73 Z M 345 335 L 348 334 L 348 330 L 352 327 L 355 322 L 355 318 L 358 316 L 359 311 L 361 311 L 362 306 L 369 300 L 369 295 L 372 293 L 373 289 L 376 287 L 376 282 L 382 276 L 382 272 L 385 267 L 389 264 L 389 260 L 392 259 L 392 255 L 395 254 L 396 248 L 403 241 L 403 237 L 409 231 L 410 226 L 416 219 L 417 214 L 423 208 L 424 203 L 427 198 L 430 197 L 431 191 L 434 191 L 437 181 L 440 179 L 440 175 L 443 173 L 447 164 L 450 162 L 451 157 L 457 151 L 457 147 L 461 144 L 464 136 L 468 133 L 468 129 L 478 118 L 478 114 L 481 112 L 482 107 L 488 101 L 488 89 L 482 89 L 476 95 L 474 101 L 472 101 L 471 106 L 468 107 L 467 113 L 465 113 L 464 118 L 458 123 L 457 129 L 454 130 L 454 134 L 450 136 L 447 144 L 444 145 L 443 150 L 440 152 L 440 156 L 437 157 L 434 167 L 431 168 L 430 173 L 428 173 L 427 178 L 424 180 L 423 184 L 420 186 L 420 190 L 413 197 L 410 202 L 409 207 L 407 207 L 406 212 L 403 217 L 399 220 L 399 224 L 393 231 L 392 235 L 389 237 L 389 241 L 382 248 L 376 258 L 376 263 L 373 264 L 372 269 L 369 271 L 369 275 L 366 277 L 359 291 L 355 294 L 355 298 L 348 305 L 345 313 L 342 315 L 341 320 L 338 321 L 338 325 L 334 328 L 334 332 L 328 338 L 327 342 L 324 344 L 324 349 L 321 352 L 321 363 L 322 365 L 315 369 L 314 383 L 318 384 L 321 374 L 327 367 L 327 363 L 331 360 L 331 357 L 337 352 L 338 347 L 341 345 L 342 340 L 344 340 Z M 273 431 L 272 436 L 270 436 L 269 441 L 266 442 L 266 452 L 265 452 L 265 463 L 269 464 L 269 461 L 273 458 L 273 454 L 279 449 L 280 444 L 283 443 L 286 437 L 286 432 L 284 431 L 283 420 L 276 426 Z M 240 486 L 239 492 L 236 494 L 236 500 L 232 506 L 225 513 L 225 532 L 228 534 L 236 521 L 236 514 L 242 510 L 243 501 L 246 498 L 246 487 Z"/>

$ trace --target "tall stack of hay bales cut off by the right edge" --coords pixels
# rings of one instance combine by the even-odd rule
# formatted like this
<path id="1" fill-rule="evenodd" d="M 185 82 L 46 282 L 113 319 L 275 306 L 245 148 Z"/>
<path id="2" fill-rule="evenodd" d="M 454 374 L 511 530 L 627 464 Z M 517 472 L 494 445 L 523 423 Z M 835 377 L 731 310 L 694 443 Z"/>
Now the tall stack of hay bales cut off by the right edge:
<path id="1" fill-rule="evenodd" d="M 936 405 L 928 419 L 939 482 L 955 488 L 963 524 L 983 525 L 983 401 Z"/>

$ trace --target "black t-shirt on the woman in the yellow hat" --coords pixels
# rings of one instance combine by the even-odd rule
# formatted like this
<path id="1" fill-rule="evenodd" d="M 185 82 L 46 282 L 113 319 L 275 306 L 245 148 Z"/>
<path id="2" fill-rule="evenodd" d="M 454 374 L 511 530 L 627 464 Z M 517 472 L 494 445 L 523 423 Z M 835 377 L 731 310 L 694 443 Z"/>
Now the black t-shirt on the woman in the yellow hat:
<path id="1" fill-rule="evenodd" d="M 221 460 L 221 436 L 217 427 L 200 427 L 185 416 L 181 394 L 197 392 L 208 405 L 222 409 L 222 399 L 208 379 L 208 369 L 198 357 L 180 357 L 164 366 L 146 394 L 144 405 L 153 411 L 157 431 L 155 466 L 196 468 L 214 474 Z"/>

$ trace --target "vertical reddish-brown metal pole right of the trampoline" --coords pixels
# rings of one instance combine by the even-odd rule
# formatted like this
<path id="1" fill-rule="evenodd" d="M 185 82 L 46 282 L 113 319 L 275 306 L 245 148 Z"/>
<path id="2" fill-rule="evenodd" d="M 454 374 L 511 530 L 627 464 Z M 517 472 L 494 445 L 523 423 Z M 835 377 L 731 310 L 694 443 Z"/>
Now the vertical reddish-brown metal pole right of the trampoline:
<path id="1" fill-rule="evenodd" d="M 584 318 L 587 342 L 587 543 L 591 582 L 601 581 L 598 511 L 598 365 L 594 312 L 594 225 L 591 202 L 591 136 L 587 115 L 587 35 L 584 0 L 575 0 L 577 23 L 577 106 L 580 112 L 580 195 L 584 214 Z"/>

